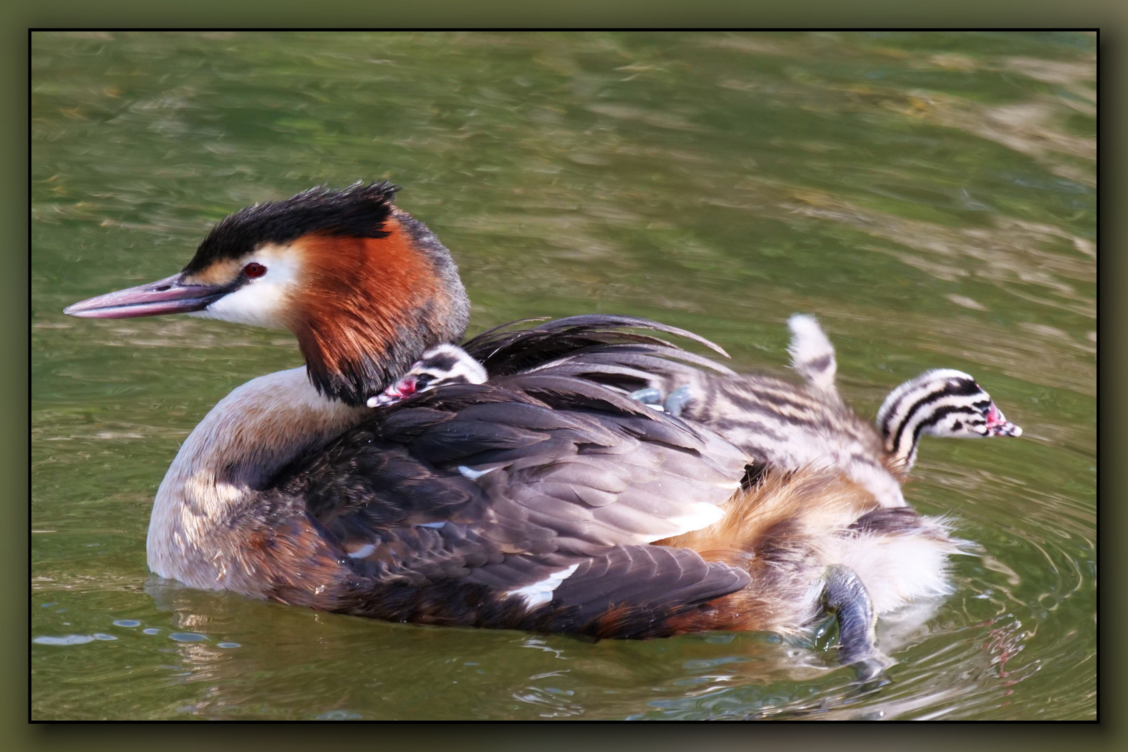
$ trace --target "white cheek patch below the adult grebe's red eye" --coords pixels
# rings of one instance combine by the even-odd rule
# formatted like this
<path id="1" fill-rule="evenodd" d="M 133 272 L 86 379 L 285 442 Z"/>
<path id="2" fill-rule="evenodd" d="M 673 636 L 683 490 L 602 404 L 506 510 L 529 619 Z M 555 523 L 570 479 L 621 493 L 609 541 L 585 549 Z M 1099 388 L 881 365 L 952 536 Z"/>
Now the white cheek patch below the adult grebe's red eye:
<path id="1" fill-rule="evenodd" d="M 284 329 L 285 313 L 293 304 L 298 289 L 301 259 L 290 247 L 264 246 L 240 259 L 243 266 L 252 262 L 265 266 L 266 274 L 248 280 L 235 292 L 188 316 Z"/>

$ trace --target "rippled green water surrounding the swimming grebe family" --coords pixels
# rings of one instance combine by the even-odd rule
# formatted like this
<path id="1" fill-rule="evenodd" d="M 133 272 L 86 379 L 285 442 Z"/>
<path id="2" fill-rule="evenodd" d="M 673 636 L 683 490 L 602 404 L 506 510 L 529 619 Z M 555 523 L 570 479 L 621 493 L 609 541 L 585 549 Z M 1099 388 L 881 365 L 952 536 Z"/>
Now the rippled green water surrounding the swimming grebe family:
<path id="1" fill-rule="evenodd" d="M 1093 718 L 1095 37 L 35 34 L 32 714 L 58 718 Z M 451 249 L 472 333 L 647 316 L 786 373 L 816 313 L 872 415 L 928 368 L 1020 440 L 925 440 L 906 496 L 978 556 L 880 627 L 590 644 L 389 625 L 150 577 L 153 493 L 288 333 L 69 319 L 208 228 L 390 178 Z M 68 636 L 76 636 L 70 637 Z M 35 642 L 38 640 L 38 642 Z M 51 644 L 51 643 L 69 644 Z"/>

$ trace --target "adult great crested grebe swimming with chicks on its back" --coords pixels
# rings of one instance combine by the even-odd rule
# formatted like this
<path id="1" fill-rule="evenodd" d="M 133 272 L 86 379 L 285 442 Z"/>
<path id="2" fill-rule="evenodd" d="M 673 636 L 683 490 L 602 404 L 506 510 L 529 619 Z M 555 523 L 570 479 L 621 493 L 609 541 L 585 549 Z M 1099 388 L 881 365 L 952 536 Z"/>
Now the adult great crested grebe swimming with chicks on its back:
<path id="1" fill-rule="evenodd" d="M 829 608 L 848 661 L 875 652 L 876 614 L 948 592 L 943 522 L 883 507 L 834 465 L 749 484 L 757 458 L 700 414 L 707 393 L 685 419 L 631 399 L 706 383 L 738 421 L 756 412 L 733 387 L 747 378 L 624 331 L 720 351 L 673 327 L 497 328 L 464 343 L 482 371 L 369 408 L 459 342 L 469 313 L 450 254 L 394 193 L 314 188 L 240 210 L 179 274 L 65 310 L 284 327 L 306 360 L 235 389 L 185 440 L 153 505 L 155 573 L 395 621 L 593 637 L 795 634 Z"/>

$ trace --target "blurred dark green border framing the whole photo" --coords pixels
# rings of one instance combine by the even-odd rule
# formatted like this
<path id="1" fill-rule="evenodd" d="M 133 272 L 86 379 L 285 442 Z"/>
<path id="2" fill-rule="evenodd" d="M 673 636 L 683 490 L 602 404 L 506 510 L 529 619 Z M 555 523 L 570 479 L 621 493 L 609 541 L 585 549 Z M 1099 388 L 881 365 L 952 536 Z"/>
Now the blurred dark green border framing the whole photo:
<path id="1" fill-rule="evenodd" d="M 1100 640 L 1100 725 L 1096 724 L 928 724 L 767 725 L 537 724 L 354 725 L 315 724 L 275 728 L 267 725 L 206 725 L 191 732 L 178 724 L 32 724 L 28 725 L 29 561 L 29 241 L 28 241 L 28 29 L 43 28 L 1099 28 L 1100 249 L 1099 357 L 1100 600 L 1105 626 Z M 1122 747 L 1116 743 L 1126 723 L 1120 700 L 1123 667 L 1119 638 L 1123 589 L 1125 489 L 1121 359 L 1125 334 L 1126 239 L 1128 213 L 1122 183 L 1128 123 L 1128 3 L 1123 0 L 571 0 L 535 5 L 528 0 L 466 2 L 412 0 L 15 0 L 0 6 L 0 86 L 6 105 L 0 132 L 0 530 L 6 546 L 0 563 L 8 574 L 0 596 L 9 604 L 0 618 L 0 738 L 12 750 L 113 749 L 197 751 L 210 749 L 491 750 L 514 752 L 646 750 L 664 752 L 728 750 L 945 750 L 972 752 L 1004 749 L 1090 750 Z M 1101 327 L 1100 325 L 1104 326 Z M 1103 377 L 1103 378 L 1100 378 Z M 1100 388 L 1103 387 L 1103 388 Z M 1111 461 L 1110 461 L 1111 460 Z M 1099 625 L 1100 627 L 1100 625 Z M 1052 716 L 1052 708 L 1047 708 Z"/>

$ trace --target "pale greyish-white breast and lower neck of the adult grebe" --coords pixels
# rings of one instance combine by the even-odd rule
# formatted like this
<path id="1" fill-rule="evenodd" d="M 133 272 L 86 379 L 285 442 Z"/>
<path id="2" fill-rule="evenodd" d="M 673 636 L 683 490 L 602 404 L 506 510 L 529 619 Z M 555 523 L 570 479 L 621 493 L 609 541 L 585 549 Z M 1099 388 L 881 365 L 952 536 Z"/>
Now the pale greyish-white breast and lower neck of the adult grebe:
<path id="1" fill-rule="evenodd" d="M 262 595 L 262 577 L 240 550 L 247 516 L 264 511 L 261 489 L 370 413 L 318 393 L 305 368 L 235 389 L 188 435 L 157 490 L 149 568 L 193 587 Z"/>

